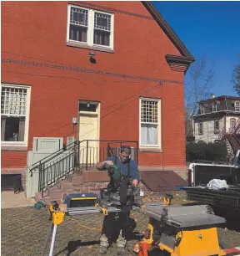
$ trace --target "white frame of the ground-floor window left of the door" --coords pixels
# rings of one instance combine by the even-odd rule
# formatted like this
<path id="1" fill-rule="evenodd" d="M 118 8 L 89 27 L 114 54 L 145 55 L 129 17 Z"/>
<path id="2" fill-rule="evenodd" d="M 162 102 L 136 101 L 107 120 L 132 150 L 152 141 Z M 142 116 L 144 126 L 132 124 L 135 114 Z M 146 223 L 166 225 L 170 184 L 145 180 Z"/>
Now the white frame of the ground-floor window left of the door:
<path id="1" fill-rule="evenodd" d="M 16 88 L 16 89 L 26 89 L 27 90 L 27 97 L 26 97 L 27 98 L 27 104 L 26 104 L 26 115 L 25 115 L 24 141 L 1 141 L 1 144 L 2 144 L 2 146 L 28 146 L 31 86 L 1 83 L 1 98 L 2 98 L 2 87 Z M 2 115 L 7 116 L 7 115 L 2 114 L 2 111 L 1 111 L 1 116 Z"/>

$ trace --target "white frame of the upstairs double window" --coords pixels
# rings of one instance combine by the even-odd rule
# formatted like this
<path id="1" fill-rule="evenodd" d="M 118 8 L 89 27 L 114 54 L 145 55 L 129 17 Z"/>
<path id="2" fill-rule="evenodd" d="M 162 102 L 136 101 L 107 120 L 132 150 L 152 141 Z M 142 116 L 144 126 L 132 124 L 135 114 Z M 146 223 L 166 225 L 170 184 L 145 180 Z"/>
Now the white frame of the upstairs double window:
<path id="1" fill-rule="evenodd" d="M 70 40 L 69 38 L 69 28 L 70 28 L 70 16 L 71 16 L 71 8 L 80 8 L 83 10 L 88 11 L 87 15 L 87 43 L 84 42 L 78 42 L 75 40 Z M 107 14 L 111 15 L 111 32 L 110 32 L 110 45 L 105 46 L 105 45 L 100 45 L 100 44 L 93 44 L 94 40 L 94 13 L 102 13 L 102 14 Z M 74 43 L 74 44 L 79 44 L 79 45 L 87 45 L 90 47 L 97 47 L 97 48 L 102 48 L 102 49 L 112 49 L 113 50 L 113 33 L 114 33 L 114 15 L 113 13 L 106 13 L 98 10 L 94 10 L 91 8 L 82 8 L 80 6 L 68 4 L 67 5 L 67 43 Z"/>

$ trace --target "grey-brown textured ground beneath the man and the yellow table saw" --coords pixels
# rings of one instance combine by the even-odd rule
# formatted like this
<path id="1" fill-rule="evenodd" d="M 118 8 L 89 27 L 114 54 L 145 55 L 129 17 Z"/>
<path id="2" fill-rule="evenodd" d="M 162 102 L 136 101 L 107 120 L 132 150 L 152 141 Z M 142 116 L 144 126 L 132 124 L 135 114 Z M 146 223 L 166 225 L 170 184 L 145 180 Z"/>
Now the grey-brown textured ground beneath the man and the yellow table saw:
<path id="1" fill-rule="evenodd" d="M 158 201 L 162 194 L 149 193 L 143 200 Z M 152 199 L 149 199 L 152 197 Z M 155 199 L 154 199 L 154 198 Z M 173 203 L 188 203 L 183 193 L 175 193 Z M 42 255 L 42 249 L 52 222 L 46 208 L 35 210 L 31 207 L 2 209 L 2 256 Z M 148 217 L 141 212 L 131 213 L 137 223 L 136 230 L 145 230 L 148 227 Z M 82 215 L 65 217 L 64 222 L 57 227 L 57 238 L 53 255 L 99 255 L 99 238 L 101 236 L 102 215 Z M 237 220 L 236 220 L 237 221 Z M 240 221 L 238 220 L 238 223 Z M 234 226 L 234 225 L 233 225 Z M 228 247 L 237 247 L 240 244 L 240 233 L 230 228 L 218 228 L 218 235 Z M 125 255 L 134 255 L 133 247 L 137 243 L 128 241 Z M 46 254 L 49 252 L 49 244 Z M 107 255 L 117 255 L 116 245 L 108 248 Z"/>

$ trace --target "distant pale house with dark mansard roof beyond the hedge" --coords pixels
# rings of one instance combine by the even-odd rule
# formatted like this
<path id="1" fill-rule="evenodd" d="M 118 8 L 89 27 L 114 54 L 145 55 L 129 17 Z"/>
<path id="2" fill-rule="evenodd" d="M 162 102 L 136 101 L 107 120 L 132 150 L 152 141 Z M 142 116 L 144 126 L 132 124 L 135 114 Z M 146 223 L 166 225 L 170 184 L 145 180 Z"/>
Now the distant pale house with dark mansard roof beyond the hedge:
<path id="1" fill-rule="evenodd" d="M 195 141 L 215 142 L 233 133 L 240 117 L 240 97 L 212 95 L 199 102 L 198 114 L 193 117 Z"/>

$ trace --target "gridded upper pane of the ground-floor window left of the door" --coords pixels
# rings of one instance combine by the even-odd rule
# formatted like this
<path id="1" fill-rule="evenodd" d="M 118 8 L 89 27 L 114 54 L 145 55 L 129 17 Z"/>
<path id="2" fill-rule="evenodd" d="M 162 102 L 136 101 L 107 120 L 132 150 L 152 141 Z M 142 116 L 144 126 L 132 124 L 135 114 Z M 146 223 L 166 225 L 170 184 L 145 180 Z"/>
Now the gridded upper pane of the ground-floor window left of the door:
<path id="1" fill-rule="evenodd" d="M 26 115 L 27 89 L 2 86 L 1 114 Z"/>

